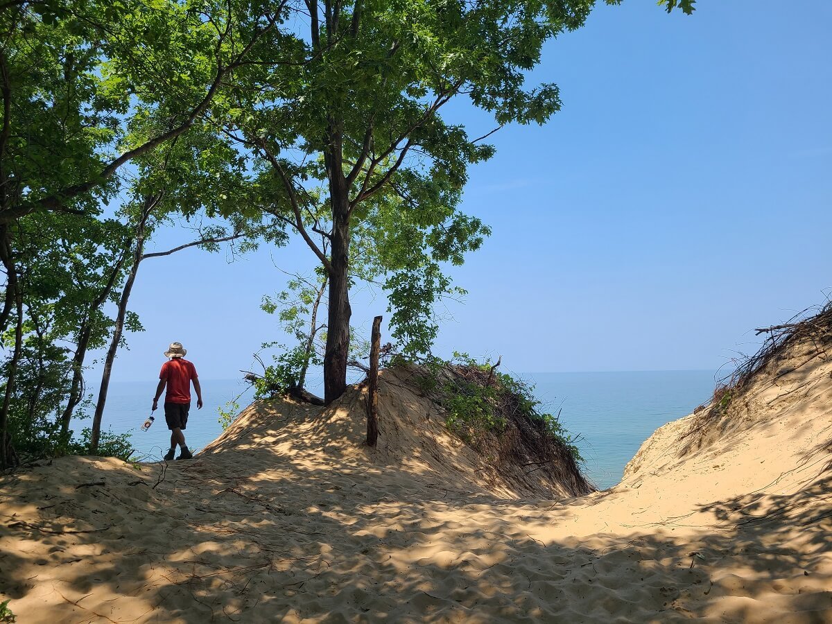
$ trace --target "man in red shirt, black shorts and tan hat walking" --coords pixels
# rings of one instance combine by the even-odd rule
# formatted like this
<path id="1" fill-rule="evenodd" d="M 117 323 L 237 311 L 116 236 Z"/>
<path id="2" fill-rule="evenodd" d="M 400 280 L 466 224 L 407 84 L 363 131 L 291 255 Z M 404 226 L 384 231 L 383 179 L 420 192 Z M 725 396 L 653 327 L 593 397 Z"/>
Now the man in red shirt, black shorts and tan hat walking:
<path id="1" fill-rule="evenodd" d="M 187 350 L 180 342 L 172 342 L 171 347 L 166 350 L 165 357 L 169 358 L 161 366 L 159 373 L 159 385 L 156 386 L 156 396 L 153 397 L 151 410 L 159 408 L 159 397 L 161 391 L 167 385 L 165 394 L 165 420 L 167 428 L 171 429 L 171 450 L 165 455 L 165 461 L 169 462 L 176 453 L 176 444 L 179 444 L 179 457 L 176 459 L 191 459 L 191 451 L 185 443 L 185 430 L 188 423 L 188 410 L 191 409 L 191 381 L 194 382 L 196 391 L 196 408 L 202 409 L 202 389 L 200 380 L 196 377 L 194 364 L 185 359 Z"/>

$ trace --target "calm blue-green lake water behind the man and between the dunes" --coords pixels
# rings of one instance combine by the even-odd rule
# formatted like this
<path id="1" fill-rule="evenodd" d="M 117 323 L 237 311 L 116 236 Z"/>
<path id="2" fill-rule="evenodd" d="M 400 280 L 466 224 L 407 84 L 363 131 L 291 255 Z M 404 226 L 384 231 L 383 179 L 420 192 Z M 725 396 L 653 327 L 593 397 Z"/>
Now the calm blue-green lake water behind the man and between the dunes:
<path id="1" fill-rule="evenodd" d="M 521 377 L 536 385 L 535 394 L 545 411 L 557 414 L 565 428 L 580 434 L 577 443 L 586 460 L 584 471 L 599 488 L 609 488 L 622 477 L 641 443 L 661 425 L 690 414 L 710 398 L 713 371 L 638 371 L 618 373 L 533 373 Z M 217 409 L 238 399 L 250 404 L 249 384 L 235 379 L 201 379 L 205 407 L 191 404 L 186 439 L 192 451 L 214 440 L 222 428 Z M 139 427 L 151 414 L 156 380 L 113 383 L 107 397 L 104 428 L 132 433 L 131 442 L 145 461 L 161 458 L 170 445 L 162 409 L 150 430 Z M 83 421 L 83 426 L 89 426 Z"/>

